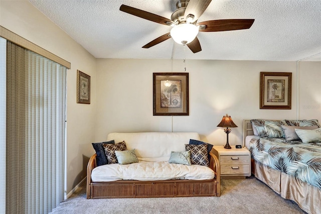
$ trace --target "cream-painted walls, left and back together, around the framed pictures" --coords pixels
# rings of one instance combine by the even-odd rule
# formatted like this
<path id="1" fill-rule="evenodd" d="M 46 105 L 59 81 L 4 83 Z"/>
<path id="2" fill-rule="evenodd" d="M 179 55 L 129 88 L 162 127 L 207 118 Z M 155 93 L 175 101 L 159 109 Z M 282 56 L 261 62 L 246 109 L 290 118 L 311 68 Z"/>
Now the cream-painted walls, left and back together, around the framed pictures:
<path id="1" fill-rule="evenodd" d="M 238 128 L 229 135 L 241 144 L 243 119 L 296 119 L 296 62 L 187 60 L 190 116 L 152 116 L 152 73 L 171 72 L 171 60 L 95 59 L 27 1 L 0 1 L 0 25 L 71 62 L 67 84 L 67 193 L 86 175 L 91 142 L 110 132 L 195 131 L 204 141 L 224 145 L 229 114 Z M 320 67 L 300 72 L 300 119 L 320 116 Z M 173 72 L 183 72 L 173 60 Z M 77 69 L 91 76 L 91 104 L 76 103 Z M 292 110 L 259 109 L 259 72 L 292 72 Z M 309 86 L 306 86 L 306 83 Z M 302 106 L 316 106 L 303 111 Z M 302 110 L 302 112 L 301 112 Z M 315 116 L 315 117 L 314 117 Z"/>

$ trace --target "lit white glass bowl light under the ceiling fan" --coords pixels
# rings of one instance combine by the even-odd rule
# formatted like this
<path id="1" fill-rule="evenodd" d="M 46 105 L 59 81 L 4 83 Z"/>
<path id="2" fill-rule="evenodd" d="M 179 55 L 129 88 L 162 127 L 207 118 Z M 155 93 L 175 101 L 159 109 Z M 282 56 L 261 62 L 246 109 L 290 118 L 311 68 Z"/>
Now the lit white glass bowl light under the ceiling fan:
<path id="1" fill-rule="evenodd" d="M 193 42 L 198 33 L 198 26 L 189 23 L 183 23 L 172 28 L 171 37 L 176 43 L 185 45 Z"/>

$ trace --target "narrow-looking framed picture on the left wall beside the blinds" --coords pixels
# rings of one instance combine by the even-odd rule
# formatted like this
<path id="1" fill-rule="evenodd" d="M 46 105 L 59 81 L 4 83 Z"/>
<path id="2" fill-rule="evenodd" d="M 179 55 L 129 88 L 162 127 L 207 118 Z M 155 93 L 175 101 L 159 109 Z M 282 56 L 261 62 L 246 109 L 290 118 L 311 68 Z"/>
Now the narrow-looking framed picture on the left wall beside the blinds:
<path id="1" fill-rule="evenodd" d="M 77 70 L 77 103 L 90 104 L 90 76 Z"/>

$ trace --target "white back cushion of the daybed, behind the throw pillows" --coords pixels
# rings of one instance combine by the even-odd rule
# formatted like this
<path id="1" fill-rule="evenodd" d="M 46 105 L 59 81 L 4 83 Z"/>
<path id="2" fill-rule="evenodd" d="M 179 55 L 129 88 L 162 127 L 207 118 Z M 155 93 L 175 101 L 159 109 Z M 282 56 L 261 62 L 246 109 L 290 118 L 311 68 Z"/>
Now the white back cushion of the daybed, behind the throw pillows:
<path id="1" fill-rule="evenodd" d="M 127 149 L 135 149 L 137 158 L 144 161 L 168 161 L 171 152 L 185 151 L 190 139 L 200 140 L 195 132 L 110 133 L 107 141 L 125 141 Z"/>

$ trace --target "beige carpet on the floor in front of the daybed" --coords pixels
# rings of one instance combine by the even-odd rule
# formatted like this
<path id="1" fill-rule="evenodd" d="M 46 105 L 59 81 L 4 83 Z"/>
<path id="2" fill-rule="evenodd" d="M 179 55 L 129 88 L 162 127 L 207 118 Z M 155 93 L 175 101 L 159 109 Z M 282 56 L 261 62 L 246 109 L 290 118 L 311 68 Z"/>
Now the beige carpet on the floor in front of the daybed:
<path id="1" fill-rule="evenodd" d="M 81 185 L 52 213 L 305 213 L 254 177 L 225 179 L 220 197 L 86 199 Z"/>

